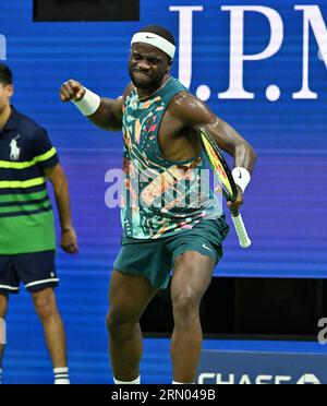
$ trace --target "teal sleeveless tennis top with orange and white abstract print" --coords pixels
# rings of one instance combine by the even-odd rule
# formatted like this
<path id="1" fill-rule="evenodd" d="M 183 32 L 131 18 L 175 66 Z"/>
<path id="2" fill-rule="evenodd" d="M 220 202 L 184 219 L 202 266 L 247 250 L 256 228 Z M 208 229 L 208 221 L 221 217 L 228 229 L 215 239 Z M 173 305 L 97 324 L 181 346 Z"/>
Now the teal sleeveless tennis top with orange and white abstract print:
<path id="1" fill-rule="evenodd" d="M 123 106 L 124 188 L 121 219 L 126 237 L 156 239 L 217 218 L 221 207 L 208 188 L 204 152 L 185 162 L 166 159 L 158 132 L 171 98 L 187 89 L 175 79 L 146 99 L 136 89 Z"/>

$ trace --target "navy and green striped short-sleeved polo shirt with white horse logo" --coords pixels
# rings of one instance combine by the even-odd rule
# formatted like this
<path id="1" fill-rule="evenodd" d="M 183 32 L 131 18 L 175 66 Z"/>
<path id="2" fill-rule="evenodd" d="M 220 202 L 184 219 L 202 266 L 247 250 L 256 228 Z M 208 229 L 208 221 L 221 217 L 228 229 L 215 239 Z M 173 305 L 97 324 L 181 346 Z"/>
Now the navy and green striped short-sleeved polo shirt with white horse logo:
<path id="1" fill-rule="evenodd" d="M 44 169 L 57 164 L 46 131 L 13 108 L 0 131 L 0 254 L 55 250 Z"/>

